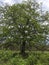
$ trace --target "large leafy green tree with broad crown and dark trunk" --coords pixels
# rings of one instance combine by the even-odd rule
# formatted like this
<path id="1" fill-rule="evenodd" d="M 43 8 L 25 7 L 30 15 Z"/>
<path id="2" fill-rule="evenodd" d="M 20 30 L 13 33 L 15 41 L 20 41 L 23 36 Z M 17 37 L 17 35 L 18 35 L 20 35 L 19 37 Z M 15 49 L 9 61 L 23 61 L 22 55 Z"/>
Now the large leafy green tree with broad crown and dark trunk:
<path id="1" fill-rule="evenodd" d="M 4 7 L 3 37 L 6 43 L 21 44 L 21 53 L 25 54 L 27 43 L 42 43 L 45 40 L 40 25 L 39 4 L 28 0 L 21 4 Z M 39 20 L 40 19 L 40 20 Z"/>

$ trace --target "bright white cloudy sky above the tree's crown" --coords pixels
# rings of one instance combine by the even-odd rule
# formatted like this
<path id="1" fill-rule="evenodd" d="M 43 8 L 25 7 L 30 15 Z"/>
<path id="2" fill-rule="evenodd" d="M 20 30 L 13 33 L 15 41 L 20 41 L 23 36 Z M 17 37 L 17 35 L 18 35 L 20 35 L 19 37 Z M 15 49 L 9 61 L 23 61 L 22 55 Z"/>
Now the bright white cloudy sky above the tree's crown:
<path id="1" fill-rule="evenodd" d="M 18 3 L 18 2 L 22 2 L 22 0 L 0 0 L 0 2 L 3 3 L 8 3 L 8 4 L 13 4 L 13 3 Z M 43 8 L 45 10 L 49 10 L 49 0 L 38 0 L 38 2 L 43 2 Z"/>

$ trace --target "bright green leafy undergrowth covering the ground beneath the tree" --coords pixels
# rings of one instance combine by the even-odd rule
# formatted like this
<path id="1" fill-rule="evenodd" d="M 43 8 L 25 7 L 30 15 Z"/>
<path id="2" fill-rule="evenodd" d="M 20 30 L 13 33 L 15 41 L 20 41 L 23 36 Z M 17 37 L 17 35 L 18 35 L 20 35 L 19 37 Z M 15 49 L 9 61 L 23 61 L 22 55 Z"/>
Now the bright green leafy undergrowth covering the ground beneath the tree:
<path id="1" fill-rule="evenodd" d="M 16 51 L 0 50 L 0 65 L 49 65 L 49 52 L 29 52 L 24 58 Z"/>

